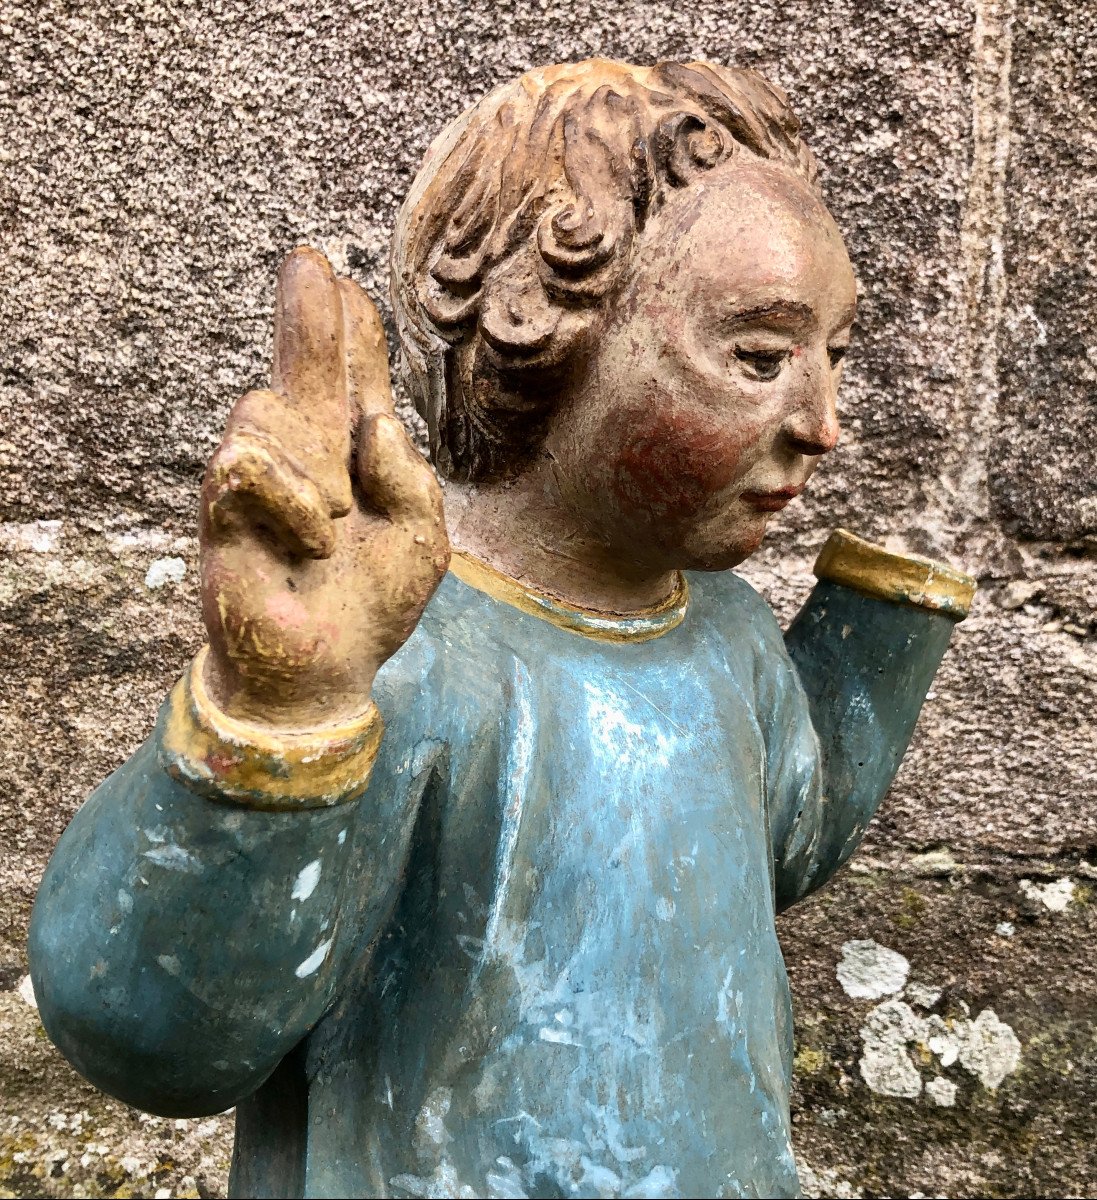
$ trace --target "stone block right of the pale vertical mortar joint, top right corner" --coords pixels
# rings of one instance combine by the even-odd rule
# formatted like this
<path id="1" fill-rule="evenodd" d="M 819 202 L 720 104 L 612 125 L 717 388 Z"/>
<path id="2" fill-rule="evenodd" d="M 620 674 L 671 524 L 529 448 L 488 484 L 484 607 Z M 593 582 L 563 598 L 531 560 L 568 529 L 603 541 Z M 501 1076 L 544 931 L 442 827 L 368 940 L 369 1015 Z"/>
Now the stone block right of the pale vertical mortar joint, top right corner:
<path id="1" fill-rule="evenodd" d="M 1020 6 L 1013 64 L 995 511 L 1023 538 L 1071 541 L 1092 552 L 1097 8 Z"/>

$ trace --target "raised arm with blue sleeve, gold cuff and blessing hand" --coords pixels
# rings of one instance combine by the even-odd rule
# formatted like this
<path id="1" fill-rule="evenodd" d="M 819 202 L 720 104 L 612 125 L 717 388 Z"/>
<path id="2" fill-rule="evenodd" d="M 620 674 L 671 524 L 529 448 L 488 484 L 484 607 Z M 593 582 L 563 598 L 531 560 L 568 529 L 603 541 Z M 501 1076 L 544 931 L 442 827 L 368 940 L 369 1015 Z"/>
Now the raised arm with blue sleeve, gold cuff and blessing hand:
<path id="1" fill-rule="evenodd" d="M 164 1115 L 229 1108 L 317 1024 L 391 910 L 430 773 L 407 769 L 421 640 L 386 672 L 388 731 L 372 697 L 444 574 L 442 499 L 376 311 L 314 251 L 280 275 L 272 376 L 203 486 L 210 644 L 66 829 L 31 918 L 50 1038 Z"/>

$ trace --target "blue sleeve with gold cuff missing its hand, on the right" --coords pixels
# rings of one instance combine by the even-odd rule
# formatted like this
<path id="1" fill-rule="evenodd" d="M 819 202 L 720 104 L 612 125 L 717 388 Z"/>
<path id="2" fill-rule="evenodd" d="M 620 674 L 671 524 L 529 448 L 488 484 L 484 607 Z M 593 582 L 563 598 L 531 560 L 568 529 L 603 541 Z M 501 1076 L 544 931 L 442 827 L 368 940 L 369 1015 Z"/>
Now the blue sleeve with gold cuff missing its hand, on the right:
<path id="1" fill-rule="evenodd" d="M 859 845 L 976 588 L 949 566 L 845 530 L 815 574 L 767 706 L 779 908 L 826 883 Z"/>

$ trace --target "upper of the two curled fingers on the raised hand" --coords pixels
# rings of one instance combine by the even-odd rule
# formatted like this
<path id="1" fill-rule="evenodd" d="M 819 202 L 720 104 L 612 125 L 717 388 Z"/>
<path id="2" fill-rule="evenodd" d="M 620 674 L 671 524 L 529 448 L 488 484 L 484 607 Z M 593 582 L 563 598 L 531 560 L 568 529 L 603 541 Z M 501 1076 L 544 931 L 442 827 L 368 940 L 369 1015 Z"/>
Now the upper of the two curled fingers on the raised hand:
<path id="1" fill-rule="evenodd" d="M 332 448 L 331 431 L 287 396 L 258 390 L 241 397 L 229 413 L 224 440 L 235 434 L 253 434 L 277 446 L 286 462 L 317 487 L 331 516 L 350 511 L 347 454 Z M 346 436 L 349 438 L 349 431 Z"/>

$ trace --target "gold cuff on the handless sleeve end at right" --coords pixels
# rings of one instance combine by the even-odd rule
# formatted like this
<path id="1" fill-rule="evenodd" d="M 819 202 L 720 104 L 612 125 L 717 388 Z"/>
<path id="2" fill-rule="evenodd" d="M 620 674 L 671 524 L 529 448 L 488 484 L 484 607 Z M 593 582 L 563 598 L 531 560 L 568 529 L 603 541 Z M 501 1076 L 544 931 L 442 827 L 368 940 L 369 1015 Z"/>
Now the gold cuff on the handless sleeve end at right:
<path id="1" fill-rule="evenodd" d="M 978 584 L 963 571 L 915 554 L 895 554 L 835 529 L 815 560 L 821 580 L 840 583 L 876 600 L 929 608 L 953 620 L 963 620 L 971 608 Z"/>

